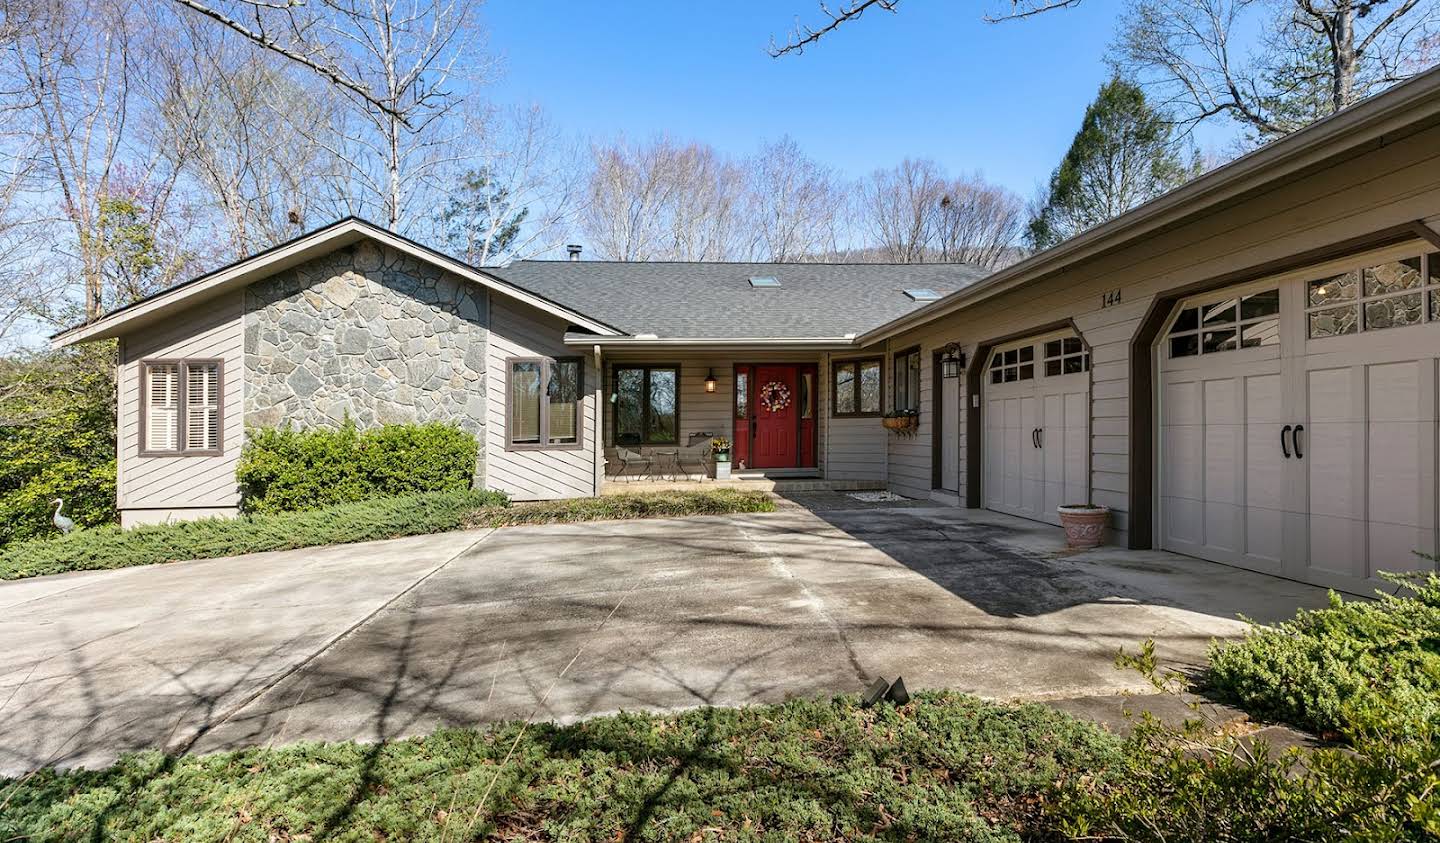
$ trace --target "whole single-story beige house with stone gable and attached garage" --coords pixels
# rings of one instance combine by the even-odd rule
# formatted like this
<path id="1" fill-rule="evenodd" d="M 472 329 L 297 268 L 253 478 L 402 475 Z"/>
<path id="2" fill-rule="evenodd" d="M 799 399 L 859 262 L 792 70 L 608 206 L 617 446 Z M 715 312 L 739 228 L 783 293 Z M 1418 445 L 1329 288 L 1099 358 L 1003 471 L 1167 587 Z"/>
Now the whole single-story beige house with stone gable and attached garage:
<path id="1" fill-rule="evenodd" d="M 769 476 L 1093 500 L 1130 548 L 1368 591 L 1437 550 L 1440 71 L 989 275 L 482 269 L 347 219 L 53 342 L 102 337 L 124 523 L 235 512 L 246 427 L 445 419 L 517 499 L 727 435 Z"/>

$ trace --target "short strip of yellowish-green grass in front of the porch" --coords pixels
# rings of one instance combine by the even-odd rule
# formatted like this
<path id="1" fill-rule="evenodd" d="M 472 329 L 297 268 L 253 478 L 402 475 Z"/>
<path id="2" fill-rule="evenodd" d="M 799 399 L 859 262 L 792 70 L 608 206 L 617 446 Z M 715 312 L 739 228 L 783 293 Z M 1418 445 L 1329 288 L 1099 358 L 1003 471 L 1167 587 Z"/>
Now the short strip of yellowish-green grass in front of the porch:
<path id="1" fill-rule="evenodd" d="M 615 519 L 664 519 L 694 514 L 775 512 L 775 500 L 763 491 L 714 489 L 706 491 L 652 491 L 541 500 L 513 506 L 491 506 L 471 516 L 481 527 L 554 525 Z"/>

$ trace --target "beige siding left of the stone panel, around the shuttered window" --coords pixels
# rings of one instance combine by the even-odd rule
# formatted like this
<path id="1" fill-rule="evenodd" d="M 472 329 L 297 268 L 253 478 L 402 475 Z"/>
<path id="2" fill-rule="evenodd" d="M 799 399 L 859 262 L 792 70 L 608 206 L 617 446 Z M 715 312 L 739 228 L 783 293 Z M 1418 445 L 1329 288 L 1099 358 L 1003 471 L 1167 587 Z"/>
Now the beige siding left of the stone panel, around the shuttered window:
<path id="1" fill-rule="evenodd" d="M 243 293 L 196 304 L 121 343 L 117 408 L 117 506 L 121 510 L 233 510 L 239 506 L 235 465 L 243 441 Z M 223 366 L 225 452 L 219 457 L 141 457 L 141 360 L 206 357 Z"/>

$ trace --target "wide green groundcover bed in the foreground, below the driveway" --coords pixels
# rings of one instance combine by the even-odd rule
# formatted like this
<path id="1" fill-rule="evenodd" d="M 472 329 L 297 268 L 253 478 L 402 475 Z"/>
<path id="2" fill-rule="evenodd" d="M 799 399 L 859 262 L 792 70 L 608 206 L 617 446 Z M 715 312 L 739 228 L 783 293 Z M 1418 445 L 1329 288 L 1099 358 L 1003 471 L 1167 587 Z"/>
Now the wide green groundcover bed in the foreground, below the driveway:
<path id="1" fill-rule="evenodd" d="M 518 728 L 43 771 L 0 782 L 0 840 L 1020 840 L 1053 781 L 1116 752 L 955 693 L 534 725 L 503 764 Z"/>

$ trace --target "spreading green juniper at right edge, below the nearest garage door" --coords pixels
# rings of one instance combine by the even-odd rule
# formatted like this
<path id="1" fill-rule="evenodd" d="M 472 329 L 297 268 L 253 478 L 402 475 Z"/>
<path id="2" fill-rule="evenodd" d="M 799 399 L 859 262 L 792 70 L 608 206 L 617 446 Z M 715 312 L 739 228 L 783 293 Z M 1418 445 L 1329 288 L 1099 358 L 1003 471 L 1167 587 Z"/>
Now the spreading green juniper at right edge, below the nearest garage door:
<path id="1" fill-rule="evenodd" d="M 1257 716 L 1325 733 L 1440 726 L 1440 575 L 1391 578 L 1400 595 L 1300 611 L 1211 646 L 1208 680 Z"/>

